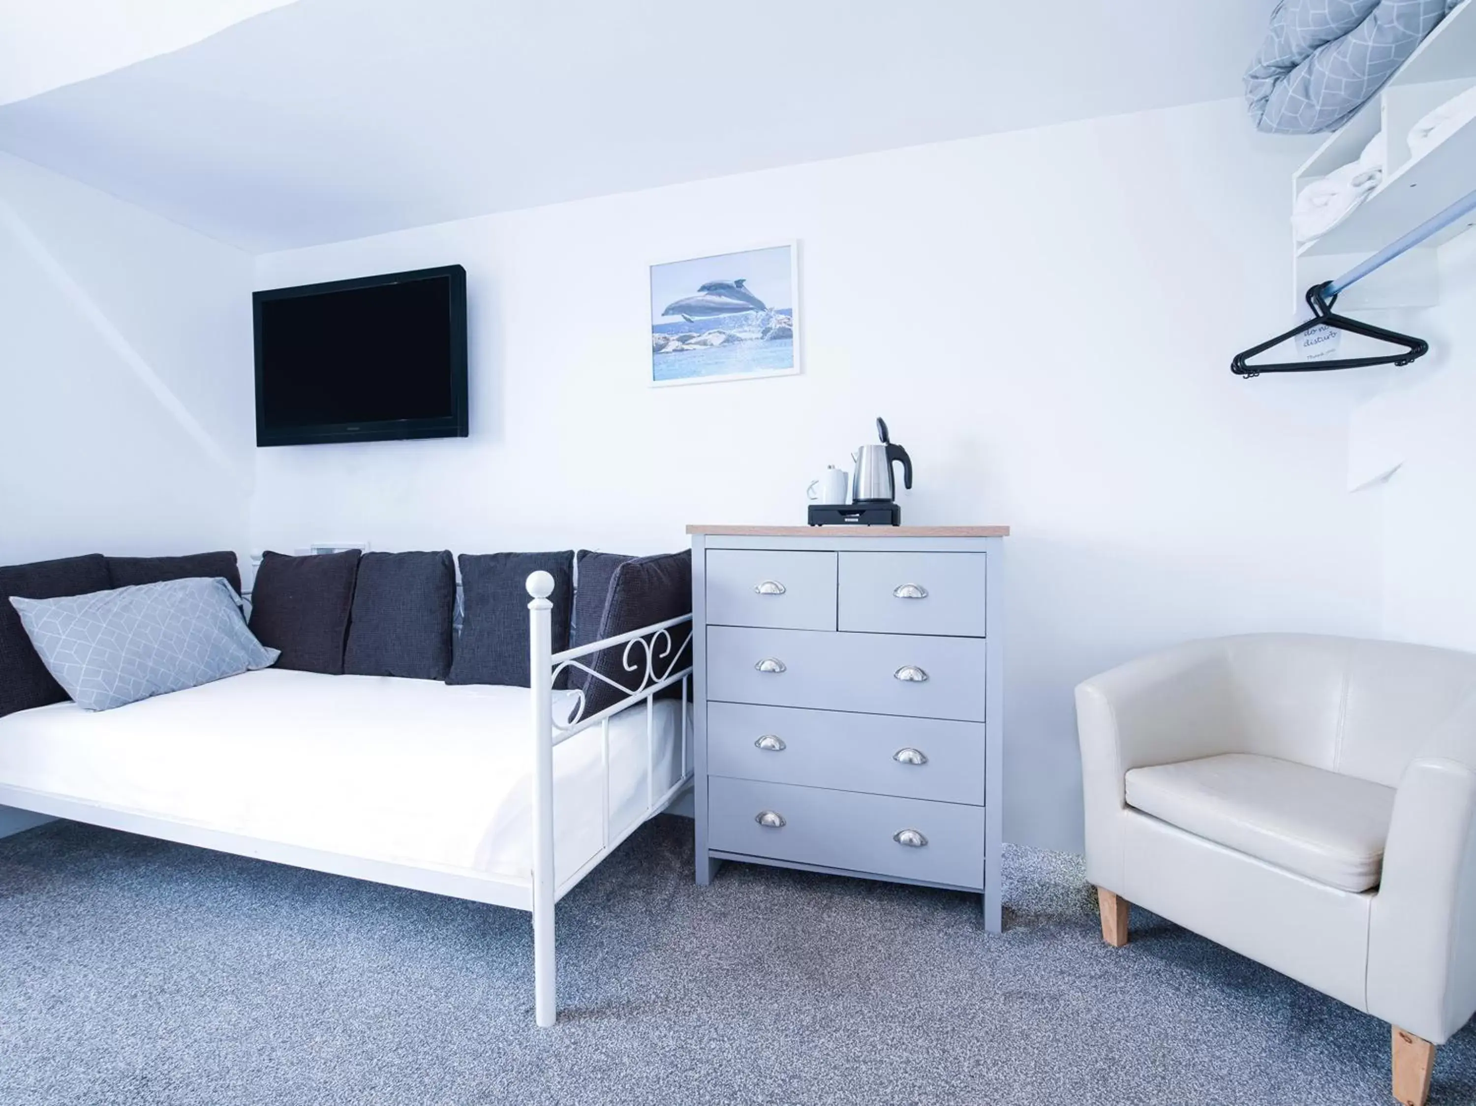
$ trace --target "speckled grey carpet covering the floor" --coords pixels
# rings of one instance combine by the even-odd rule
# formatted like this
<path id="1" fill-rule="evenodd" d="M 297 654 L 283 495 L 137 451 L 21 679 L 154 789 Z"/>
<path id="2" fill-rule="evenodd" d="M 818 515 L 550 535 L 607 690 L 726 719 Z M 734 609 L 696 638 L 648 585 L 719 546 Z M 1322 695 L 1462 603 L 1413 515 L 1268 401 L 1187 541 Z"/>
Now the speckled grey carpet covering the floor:
<path id="1" fill-rule="evenodd" d="M 525 914 L 56 822 L 0 840 L 0 1103 L 1392 1102 L 1374 1019 L 1011 851 L 951 892 L 726 865 L 660 818 Z M 1433 1103 L 1476 1100 L 1476 1032 Z"/>

